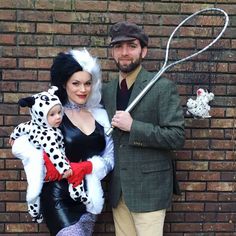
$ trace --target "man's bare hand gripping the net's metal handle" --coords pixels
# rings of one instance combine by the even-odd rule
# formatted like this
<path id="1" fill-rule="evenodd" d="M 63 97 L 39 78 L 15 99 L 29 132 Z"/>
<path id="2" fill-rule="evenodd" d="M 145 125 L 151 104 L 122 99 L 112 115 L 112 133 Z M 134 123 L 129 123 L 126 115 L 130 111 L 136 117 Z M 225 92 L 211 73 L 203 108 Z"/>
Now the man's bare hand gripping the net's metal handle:
<path id="1" fill-rule="evenodd" d="M 116 111 L 113 116 L 111 125 L 123 131 L 129 132 L 133 123 L 133 118 L 127 111 Z"/>

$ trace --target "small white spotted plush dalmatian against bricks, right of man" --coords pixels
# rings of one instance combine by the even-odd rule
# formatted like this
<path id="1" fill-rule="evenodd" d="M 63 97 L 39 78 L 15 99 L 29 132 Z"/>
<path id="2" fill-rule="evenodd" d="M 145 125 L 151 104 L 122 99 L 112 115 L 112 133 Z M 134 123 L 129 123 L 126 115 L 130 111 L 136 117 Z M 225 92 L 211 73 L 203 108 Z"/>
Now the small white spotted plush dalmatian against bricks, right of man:
<path id="1" fill-rule="evenodd" d="M 196 100 L 189 98 L 187 101 L 187 115 L 193 115 L 196 118 L 210 118 L 209 111 L 211 107 L 208 103 L 213 99 L 213 93 L 209 93 L 207 90 L 199 88 L 197 90 Z"/>

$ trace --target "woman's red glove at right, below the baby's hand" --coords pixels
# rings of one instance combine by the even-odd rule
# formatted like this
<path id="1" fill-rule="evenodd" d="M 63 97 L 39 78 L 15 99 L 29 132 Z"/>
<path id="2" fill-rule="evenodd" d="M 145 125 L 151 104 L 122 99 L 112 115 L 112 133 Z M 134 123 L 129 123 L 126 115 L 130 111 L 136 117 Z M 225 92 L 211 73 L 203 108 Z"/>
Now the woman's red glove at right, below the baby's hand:
<path id="1" fill-rule="evenodd" d="M 84 176 L 90 174 L 93 170 L 91 161 L 71 162 L 70 166 L 73 174 L 67 180 L 74 188 L 81 184 Z"/>

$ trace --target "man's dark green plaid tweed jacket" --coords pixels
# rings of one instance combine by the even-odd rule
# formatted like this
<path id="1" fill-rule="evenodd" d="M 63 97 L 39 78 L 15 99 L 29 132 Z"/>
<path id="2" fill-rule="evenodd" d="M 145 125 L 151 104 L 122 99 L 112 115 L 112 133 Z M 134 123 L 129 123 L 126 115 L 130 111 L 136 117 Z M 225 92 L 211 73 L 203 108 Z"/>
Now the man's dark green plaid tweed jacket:
<path id="1" fill-rule="evenodd" d="M 141 69 L 129 104 L 155 73 Z M 116 111 L 118 78 L 103 86 L 103 104 L 111 120 Z M 121 194 L 133 212 L 149 212 L 170 206 L 173 194 L 172 150 L 184 145 L 184 117 L 176 85 L 159 79 L 131 111 L 130 132 L 114 129 L 115 167 L 109 195 L 116 207 Z"/>

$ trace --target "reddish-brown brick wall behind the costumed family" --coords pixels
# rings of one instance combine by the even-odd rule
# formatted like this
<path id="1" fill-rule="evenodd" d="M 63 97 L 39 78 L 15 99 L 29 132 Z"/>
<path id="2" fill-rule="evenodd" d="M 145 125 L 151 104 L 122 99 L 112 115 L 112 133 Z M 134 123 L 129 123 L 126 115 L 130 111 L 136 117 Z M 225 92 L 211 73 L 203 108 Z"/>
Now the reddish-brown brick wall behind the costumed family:
<path id="1" fill-rule="evenodd" d="M 107 49 L 108 29 L 130 20 L 150 35 L 144 65 L 158 70 L 163 42 L 173 27 L 205 7 L 226 10 L 230 26 L 212 52 L 217 61 L 209 58 L 198 73 L 188 63 L 166 73 L 177 82 L 184 107 L 198 87 L 210 88 L 215 99 L 212 118 L 186 117 L 186 144 L 176 152 L 182 195 L 174 197 L 168 210 L 164 235 L 236 235 L 235 0 L 0 0 L 0 235 L 48 235 L 45 224 L 32 223 L 26 213 L 25 173 L 11 154 L 8 137 L 29 118 L 18 99 L 48 87 L 53 57 L 71 47 L 87 47 L 99 57 L 103 79 L 110 79 L 116 68 Z M 109 205 L 99 216 L 95 235 L 114 235 Z"/>

